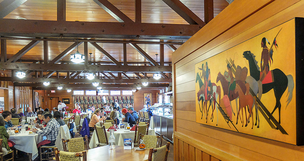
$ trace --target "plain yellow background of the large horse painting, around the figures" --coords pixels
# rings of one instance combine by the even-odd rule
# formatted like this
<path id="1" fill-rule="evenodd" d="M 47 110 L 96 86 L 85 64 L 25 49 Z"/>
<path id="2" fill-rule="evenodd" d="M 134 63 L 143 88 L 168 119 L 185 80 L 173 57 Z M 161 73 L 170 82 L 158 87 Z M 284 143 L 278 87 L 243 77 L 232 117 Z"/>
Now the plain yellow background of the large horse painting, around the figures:
<path id="1" fill-rule="evenodd" d="M 282 28 L 280 33 L 278 34 L 278 31 Z M 247 67 L 248 74 L 250 75 L 249 71 L 249 65 L 248 61 L 243 57 L 244 51 L 251 51 L 256 57 L 256 61 L 258 62 L 258 66 L 260 67 L 261 62 L 261 40 L 263 37 L 267 38 L 270 42 L 270 44 L 273 42 L 275 36 L 278 34 L 276 40 L 278 44 L 278 49 L 274 49 L 273 53 L 273 62 L 271 62 L 270 70 L 273 69 L 280 69 L 284 72 L 285 75 L 291 74 L 293 76 L 293 81 L 295 83 L 295 20 L 292 19 L 290 21 L 287 21 L 275 28 L 272 28 L 260 35 L 255 36 L 254 38 L 248 38 L 249 40 L 244 41 L 241 44 L 238 44 L 230 49 L 227 49 L 226 51 L 223 51 L 213 57 L 210 57 L 204 61 L 201 61 L 197 64 L 195 64 L 195 77 L 197 72 L 201 72 L 198 68 L 202 67 L 202 64 L 206 64 L 208 62 L 208 67 L 210 69 L 210 75 L 211 75 L 211 82 L 216 83 L 216 77 L 219 72 L 221 74 L 224 74 L 224 71 L 227 71 L 227 64 L 226 59 L 229 60 L 229 58 L 234 59 L 234 64 L 236 66 L 240 67 Z M 271 45 L 267 44 L 267 47 L 270 48 Z M 205 69 L 206 70 L 206 69 Z M 234 75 L 233 75 L 234 76 Z M 221 98 L 223 98 L 223 90 L 220 82 L 216 83 L 216 85 L 221 87 Z M 285 90 L 284 94 L 281 97 L 281 126 L 284 128 L 284 130 L 288 133 L 288 135 L 282 134 L 279 130 L 272 129 L 270 125 L 267 123 L 263 115 L 258 112 L 259 118 L 260 118 L 260 127 L 257 128 L 257 126 L 252 127 L 252 118 L 250 118 L 250 123 L 248 123 L 248 126 L 242 127 L 242 123 L 240 122 L 239 118 L 238 124 L 236 125 L 236 118 L 237 118 L 237 111 L 236 111 L 236 101 L 231 101 L 231 105 L 233 108 L 233 112 L 235 113 L 235 116 L 233 115 L 232 121 L 233 124 L 236 126 L 237 130 L 240 133 L 246 133 L 254 136 L 261 136 L 268 139 L 278 140 L 286 143 L 296 144 L 296 108 L 295 108 L 295 87 L 293 89 L 293 97 L 292 101 L 288 106 L 286 107 L 287 103 L 287 90 Z M 199 83 L 195 83 L 195 93 L 199 91 Z M 201 119 L 202 113 L 199 109 L 199 103 L 197 101 L 197 96 L 195 94 L 195 102 L 196 102 L 196 122 L 211 125 L 214 127 L 224 128 L 228 130 L 236 131 L 235 128 L 231 123 L 229 123 L 230 127 L 225 122 L 225 119 L 221 115 L 221 113 L 218 111 L 218 126 L 216 126 L 217 123 L 217 115 L 216 110 L 214 110 L 214 119 L 213 122 L 211 122 L 210 117 L 212 114 L 211 107 L 208 112 L 208 122 L 206 123 L 205 115 L 203 114 L 203 117 Z M 218 100 L 217 100 L 218 101 Z M 268 93 L 263 94 L 261 98 L 261 102 L 265 105 L 265 107 L 268 109 L 269 112 L 272 112 L 272 110 L 275 107 L 275 95 L 273 89 L 270 90 Z M 201 102 L 200 102 L 201 105 Z M 209 106 L 209 103 L 208 103 Z M 207 108 L 208 108 L 207 106 Z M 255 114 L 255 108 L 253 108 L 253 117 L 254 117 L 254 124 L 256 119 Z M 241 112 L 240 112 L 241 113 Z M 242 115 L 240 115 L 242 117 Z M 273 113 L 273 116 L 278 121 L 278 109 L 275 110 Z M 248 111 L 247 111 L 247 117 L 248 117 Z M 244 113 L 244 120 L 245 120 L 245 113 Z M 224 137 L 224 136 L 223 136 Z"/>

